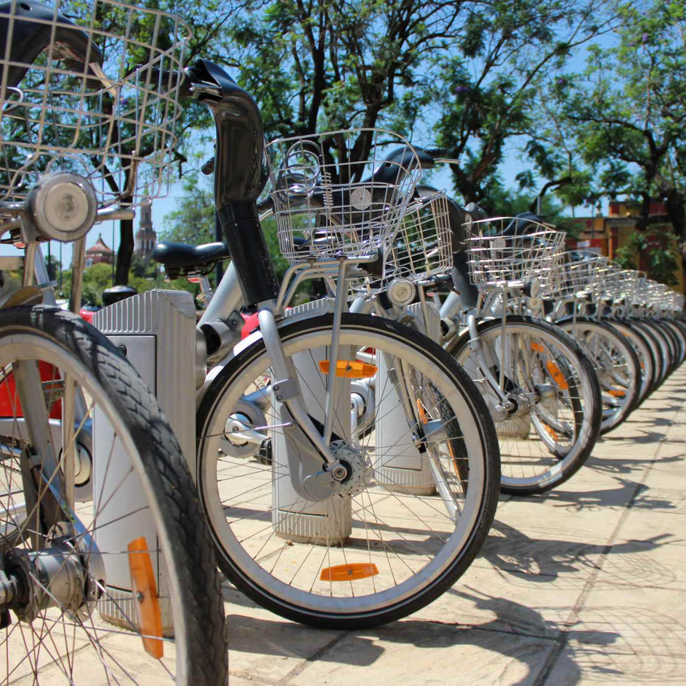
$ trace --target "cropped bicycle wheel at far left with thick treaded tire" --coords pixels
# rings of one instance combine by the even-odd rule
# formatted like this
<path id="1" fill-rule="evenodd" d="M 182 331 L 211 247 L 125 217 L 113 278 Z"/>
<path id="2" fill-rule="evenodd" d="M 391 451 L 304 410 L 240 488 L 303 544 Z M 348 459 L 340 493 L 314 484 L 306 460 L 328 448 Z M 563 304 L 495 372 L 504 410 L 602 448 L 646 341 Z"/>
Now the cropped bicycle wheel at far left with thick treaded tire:
<path id="1" fill-rule="evenodd" d="M 101 333 L 51 307 L 0 311 L 0 370 L 1 681 L 226 683 L 211 542 L 150 390 Z M 119 508 L 134 492 L 142 504 Z M 130 547 L 108 545 L 117 529 Z"/>

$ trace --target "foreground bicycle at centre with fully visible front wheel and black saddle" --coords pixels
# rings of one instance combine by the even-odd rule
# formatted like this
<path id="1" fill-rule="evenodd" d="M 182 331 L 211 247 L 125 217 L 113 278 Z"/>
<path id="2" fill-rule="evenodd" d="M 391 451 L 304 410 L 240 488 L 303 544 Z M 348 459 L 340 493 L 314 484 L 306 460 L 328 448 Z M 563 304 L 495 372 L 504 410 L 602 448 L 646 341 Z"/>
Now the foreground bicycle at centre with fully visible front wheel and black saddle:
<path id="1" fill-rule="evenodd" d="M 400 324 L 343 311 L 346 282 L 388 251 L 413 196 L 417 154 L 375 130 L 362 131 L 368 150 L 381 134 L 400 152 L 353 162 L 353 134 L 331 132 L 276 141 L 263 154 L 255 102 L 216 65 L 201 69 L 203 88 L 215 93 L 200 99 L 217 119 L 215 199 L 226 242 L 160 244 L 153 259 L 171 277 L 202 279 L 217 259 L 232 258 L 198 324 L 213 363 L 198 391 L 198 488 L 220 568 L 298 622 L 392 621 L 469 567 L 493 520 L 499 477 L 490 416 L 451 357 Z M 185 79 L 200 81 L 189 70 Z M 250 123 L 234 140 L 254 151 L 240 179 L 223 171 L 239 167 L 232 161 L 241 152 L 222 129 L 229 97 Z M 256 204 L 263 156 L 281 252 L 292 263 L 281 285 Z M 335 298 L 287 310 L 298 284 L 314 278 L 338 284 Z M 234 348 L 243 305 L 257 307 L 259 331 Z M 403 435 L 381 443 L 375 423 L 361 437 L 351 389 L 362 404 L 374 390 L 377 409 L 397 413 Z M 377 479 L 407 450 L 431 465 L 430 493 Z"/>

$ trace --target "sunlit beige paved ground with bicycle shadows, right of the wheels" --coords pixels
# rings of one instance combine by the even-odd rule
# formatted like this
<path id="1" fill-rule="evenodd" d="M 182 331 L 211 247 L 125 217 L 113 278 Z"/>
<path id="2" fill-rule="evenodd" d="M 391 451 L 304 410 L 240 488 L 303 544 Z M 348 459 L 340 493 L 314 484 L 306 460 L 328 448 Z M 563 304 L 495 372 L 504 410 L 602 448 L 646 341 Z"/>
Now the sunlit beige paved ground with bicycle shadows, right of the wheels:
<path id="1" fill-rule="evenodd" d="M 316 630 L 226 584 L 232 686 L 686 684 L 686 366 L 422 611 Z"/>

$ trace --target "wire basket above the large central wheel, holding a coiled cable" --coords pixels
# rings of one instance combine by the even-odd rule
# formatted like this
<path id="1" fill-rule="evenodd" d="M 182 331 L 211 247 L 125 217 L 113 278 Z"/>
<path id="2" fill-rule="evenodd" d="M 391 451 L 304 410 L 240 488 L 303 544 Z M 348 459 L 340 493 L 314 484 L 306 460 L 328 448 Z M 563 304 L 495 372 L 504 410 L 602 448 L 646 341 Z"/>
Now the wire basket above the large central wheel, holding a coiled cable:
<path id="1" fill-rule="evenodd" d="M 421 175 L 410 143 L 385 130 L 351 129 L 278 139 L 267 152 L 285 259 L 388 251 Z"/>

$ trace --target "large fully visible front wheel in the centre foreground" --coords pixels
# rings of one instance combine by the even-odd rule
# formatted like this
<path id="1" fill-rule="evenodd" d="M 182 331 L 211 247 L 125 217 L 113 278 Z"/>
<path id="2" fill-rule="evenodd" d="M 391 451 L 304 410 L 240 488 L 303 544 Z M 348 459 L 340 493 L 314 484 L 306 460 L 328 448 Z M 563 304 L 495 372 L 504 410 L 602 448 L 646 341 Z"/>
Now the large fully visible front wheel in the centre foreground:
<path id="1" fill-rule="evenodd" d="M 280 329 L 321 426 L 332 325 Z M 279 615 L 338 629 L 399 619 L 454 584 L 486 538 L 499 483 L 488 410 L 440 346 L 344 314 L 340 350 L 362 376 L 338 399 L 331 445 L 353 466 L 338 495 L 294 493 L 292 429 L 261 340 L 217 373 L 198 411 L 199 492 L 222 571 Z"/>

